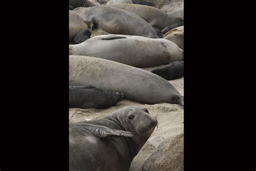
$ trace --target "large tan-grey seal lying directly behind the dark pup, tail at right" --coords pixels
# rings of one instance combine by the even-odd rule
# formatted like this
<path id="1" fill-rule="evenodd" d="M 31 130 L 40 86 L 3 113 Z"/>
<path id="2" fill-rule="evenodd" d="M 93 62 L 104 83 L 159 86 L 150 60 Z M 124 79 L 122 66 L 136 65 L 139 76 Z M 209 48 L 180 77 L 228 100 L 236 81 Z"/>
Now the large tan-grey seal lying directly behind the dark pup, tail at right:
<path id="1" fill-rule="evenodd" d="M 184 106 L 183 96 L 164 78 L 111 60 L 69 56 L 69 83 L 122 92 L 124 99 L 143 104 L 168 102 Z"/>

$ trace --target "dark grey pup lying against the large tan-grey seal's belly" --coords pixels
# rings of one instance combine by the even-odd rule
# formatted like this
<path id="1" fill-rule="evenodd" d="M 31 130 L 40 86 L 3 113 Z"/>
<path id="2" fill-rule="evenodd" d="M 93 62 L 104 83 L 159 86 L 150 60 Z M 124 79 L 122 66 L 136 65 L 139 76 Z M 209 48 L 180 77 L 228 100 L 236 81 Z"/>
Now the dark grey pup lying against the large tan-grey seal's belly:
<path id="1" fill-rule="evenodd" d="M 69 86 L 69 108 L 107 108 L 122 100 L 121 92 L 104 91 L 93 86 Z"/>

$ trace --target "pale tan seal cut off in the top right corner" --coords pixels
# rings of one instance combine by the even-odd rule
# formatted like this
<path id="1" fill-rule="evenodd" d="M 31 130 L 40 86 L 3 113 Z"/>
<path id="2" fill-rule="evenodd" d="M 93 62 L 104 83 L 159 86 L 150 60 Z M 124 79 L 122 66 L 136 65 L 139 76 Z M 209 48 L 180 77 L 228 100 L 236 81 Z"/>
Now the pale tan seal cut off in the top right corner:
<path id="1" fill-rule="evenodd" d="M 156 5 L 155 7 L 164 12 L 177 11 L 181 8 L 184 8 L 184 1 L 173 1 L 173 2 L 160 3 L 160 4 Z"/>

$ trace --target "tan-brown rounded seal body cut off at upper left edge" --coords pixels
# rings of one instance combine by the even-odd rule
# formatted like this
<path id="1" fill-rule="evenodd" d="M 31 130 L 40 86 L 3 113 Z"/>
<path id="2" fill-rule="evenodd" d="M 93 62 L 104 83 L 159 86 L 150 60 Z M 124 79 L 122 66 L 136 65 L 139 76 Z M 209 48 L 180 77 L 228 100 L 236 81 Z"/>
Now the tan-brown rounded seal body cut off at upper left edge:
<path id="1" fill-rule="evenodd" d="M 76 12 L 69 11 L 69 42 L 72 42 L 77 33 L 87 29 L 83 18 L 81 18 Z"/>

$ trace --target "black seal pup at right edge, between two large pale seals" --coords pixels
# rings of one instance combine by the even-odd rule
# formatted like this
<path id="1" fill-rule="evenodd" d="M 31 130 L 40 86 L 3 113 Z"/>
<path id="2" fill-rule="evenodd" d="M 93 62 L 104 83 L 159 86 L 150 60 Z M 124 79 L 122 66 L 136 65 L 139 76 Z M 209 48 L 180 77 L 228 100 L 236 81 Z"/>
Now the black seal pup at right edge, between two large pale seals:
<path id="1" fill-rule="evenodd" d="M 184 75 L 184 61 L 173 61 L 172 63 L 151 72 L 166 80 L 178 79 Z"/>

